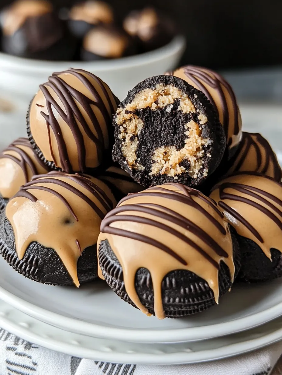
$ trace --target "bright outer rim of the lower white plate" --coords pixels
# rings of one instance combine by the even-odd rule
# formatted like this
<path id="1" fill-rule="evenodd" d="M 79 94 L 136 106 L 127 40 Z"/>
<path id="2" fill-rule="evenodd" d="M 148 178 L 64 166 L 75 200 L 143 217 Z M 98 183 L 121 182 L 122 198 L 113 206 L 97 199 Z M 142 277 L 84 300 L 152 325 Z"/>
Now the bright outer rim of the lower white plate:
<path id="1" fill-rule="evenodd" d="M 0 301 L 0 304 L 1 302 L 3 303 L 4 301 Z M 27 314 L 18 311 L 12 305 L 9 305 L 9 308 L 14 309 L 19 314 L 27 316 Z M 42 321 L 37 319 L 35 320 L 39 325 L 43 324 L 48 326 L 47 323 L 43 323 Z M 66 342 L 59 341 L 58 339 L 42 337 L 35 332 L 30 332 L 26 326 L 22 326 L 20 324 L 17 325 L 16 323 L 10 321 L 8 317 L 4 317 L 1 314 L 0 325 L 3 329 L 9 331 L 10 333 L 13 333 L 14 335 L 21 337 L 22 339 L 30 341 L 33 344 L 40 345 L 41 347 L 57 351 L 59 353 L 67 354 L 69 356 L 75 356 L 91 360 L 99 360 L 110 363 L 131 363 L 136 365 L 184 365 L 192 363 L 210 362 L 213 360 L 220 360 L 228 357 L 234 357 L 240 354 L 249 353 L 251 351 L 266 347 L 267 345 L 274 344 L 275 342 L 281 341 L 282 339 L 282 328 L 279 328 L 273 329 L 272 332 L 267 333 L 266 335 L 262 333 L 260 337 L 255 337 L 253 339 L 249 339 L 248 336 L 246 336 L 245 338 L 242 338 L 242 341 L 240 342 L 236 342 L 234 344 L 229 345 L 223 345 L 222 347 L 216 349 L 206 349 L 191 352 L 182 351 L 161 354 L 118 353 L 107 352 L 103 350 L 98 351 L 95 349 L 86 348 L 85 345 L 78 345 L 74 343 L 68 344 Z M 60 328 L 55 329 L 60 332 L 60 337 L 62 337 L 61 335 L 63 335 L 64 333 L 69 333 Z M 91 340 L 99 340 L 99 338 L 89 337 L 87 335 L 82 336 L 85 336 Z M 145 345 L 145 343 L 143 343 L 142 345 Z"/>

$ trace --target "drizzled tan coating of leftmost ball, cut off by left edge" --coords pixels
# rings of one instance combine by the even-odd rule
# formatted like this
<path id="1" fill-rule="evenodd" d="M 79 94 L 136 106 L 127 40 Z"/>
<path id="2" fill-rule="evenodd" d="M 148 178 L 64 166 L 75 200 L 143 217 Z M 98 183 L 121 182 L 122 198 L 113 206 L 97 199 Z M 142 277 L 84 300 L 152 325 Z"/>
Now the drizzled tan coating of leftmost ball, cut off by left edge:
<path id="1" fill-rule="evenodd" d="M 28 139 L 19 138 L 0 154 L 0 194 L 11 198 L 34 175 L 47 172 Z"/>

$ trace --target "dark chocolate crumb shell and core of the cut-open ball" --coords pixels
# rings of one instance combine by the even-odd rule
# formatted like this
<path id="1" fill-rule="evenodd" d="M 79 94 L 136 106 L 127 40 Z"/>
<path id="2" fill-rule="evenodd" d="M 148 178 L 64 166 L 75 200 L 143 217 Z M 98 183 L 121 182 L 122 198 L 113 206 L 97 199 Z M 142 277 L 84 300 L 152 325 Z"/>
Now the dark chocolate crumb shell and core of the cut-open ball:
<path id="1" fill-rule="evenodd" d="M 135 181 L 140 183 L 142 186 L 149 187 L 167 182 L 178 182 L 187 186 L 195 187 L 203 183 L 206 177 L 212 174 L 213 171 L 218 167 L 221 162 L 222 156 L 225 150 L 225 134 L 222 125 L 219 123 L 218 115 L 216 114 L 213 106 L 207 100 L 206 96 L 197 89 L 194 89 L 184 80 L 173 77 L 173 76 L 155 76 L 147 78 L 146 80 L 137 84 L 133 90 L 131 90 L 127 98 L 121 102 L 119 108 L 125 108 L 128 104 L 131 104 L 136 95 L 143 90 L 152 89 L 155 90 L 157 85 L 173 86 L 176 89 L 181 90 L 187 94 L 191 99 L 192 104 L 198 112 L 195 113 L 184 113 L 179 110 L 179 100 L 176 99 L 167 110 L 167 107 L 157 108 L 151 110 L 151 108 L 137 109 L 134 114 L 137 115 L 140 120 L 143 121 L 144 126 L 138 133 L 139 144 L 137 146 L 136 156 L 140 160 L 140 164 L 145 168 L 143 170 L 137 170 L 128 166 L 126 158 L 122 153 L 122 139 L 120 135 L 120 126 L 117 125 L 117 114 L 113 118 L 113 124 L 115 126 L 115 145 L 113 147 L 112 157 L 113 160 L 119 162 L 121 167 L 128 172 Z M 203 156 L 203 171 L 206 169 L 207 176 L 203 173 L 199 173 L 196 178 L 191 177 L 188 172 L 182 172 L 175 177 L 167 174 L 154 174 L 149 175 L 152 168 L 152 157 L 154 150 L 163 146 L 175 146 L 176 150 L 180 150 L 185 146 L 185 139 L 187 135 L 185 132 L 187 128 L 185 125 L 193 120 L 198 122 L 198 114 L 202 113 L 207 118 L 205 126 L 201 130 L 201 138 L 210 139 L 210 143 L 204 148 Z M 210 155 L 210 156 L 209 156 Z M 179 166 L 189 168 L 189 160 L 183 160 Z"/>

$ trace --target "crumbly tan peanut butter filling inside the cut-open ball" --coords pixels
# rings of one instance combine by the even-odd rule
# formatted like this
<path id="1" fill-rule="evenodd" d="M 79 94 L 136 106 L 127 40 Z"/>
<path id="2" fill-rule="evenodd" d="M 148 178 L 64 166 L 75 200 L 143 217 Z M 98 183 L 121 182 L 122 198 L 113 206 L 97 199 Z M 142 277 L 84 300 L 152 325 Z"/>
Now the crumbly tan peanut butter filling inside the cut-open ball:
<path id="1" fill-rule="evenodd" d="M 166 145 L 154 150 L 152 169 L 149 175 L 166 174 L 177 179 L 179 174 L 188 172 L 192 178 L 197 178 L 199 175 L 207 176 L 208 170 L 203 166 L 204 148 L 211 141 L 208 138 L 201 137 L 207 117 L 195 109 L 187 94 L 172 85 L 157 85 L 154 90 L 143 90 L 125 108 L 118 109 L 116 124 L 119 125 L 120 129 L 121 151 L 125 157 L 125 163 L 130 168 L 139 171 L 145 169 L 136 155 L 139 145 L 138 135 L 143 129 L 144 123 L 134 112 L 148 107 L 153 111 L 158 108 L 166 108 L 166 111 L 170 112 L 176 100 L 179 101 L 179 111 L 183 113 L 197 112 L 198 121 L 191 120 L 185 124 L 187 138 L 184 147 L 180 150 L 177 150 L 175 146 Z M 206 156 L 210 157 L 210 154 Z M 188 170 L 184 165 L 181 165 L 184 160 L 188 161 Z"/>

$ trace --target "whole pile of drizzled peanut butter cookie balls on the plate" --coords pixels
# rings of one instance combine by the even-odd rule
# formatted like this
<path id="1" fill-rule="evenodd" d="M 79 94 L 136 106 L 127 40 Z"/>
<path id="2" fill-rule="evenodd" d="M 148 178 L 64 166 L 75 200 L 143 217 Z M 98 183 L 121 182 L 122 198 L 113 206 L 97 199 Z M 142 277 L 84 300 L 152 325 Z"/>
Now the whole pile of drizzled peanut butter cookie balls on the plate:
<path id="1" fill-rule="evenodd" d="M 282 171 L 216 72 L 184 66 L 122 102 L 90 72 L 54 73 L 27 134 L 0 155 L 0 252 L 24 276 L 100 277 L 159 319 L 282 276 Z"/>

